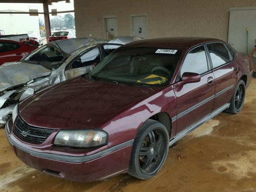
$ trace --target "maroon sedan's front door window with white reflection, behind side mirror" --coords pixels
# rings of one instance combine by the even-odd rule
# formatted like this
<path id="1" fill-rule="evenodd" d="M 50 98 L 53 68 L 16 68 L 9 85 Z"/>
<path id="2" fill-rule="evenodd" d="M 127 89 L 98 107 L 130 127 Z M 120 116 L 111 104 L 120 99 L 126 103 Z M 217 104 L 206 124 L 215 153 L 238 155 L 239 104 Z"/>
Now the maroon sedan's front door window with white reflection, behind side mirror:
<path id="1" fill-rule="evenodd" d="M 183 62 L 180 70 L 180 77 L 184 72 L 203 74 L 208 71 L 208 63 L 204 46 L 199 46 L 191 50 Z"/>

